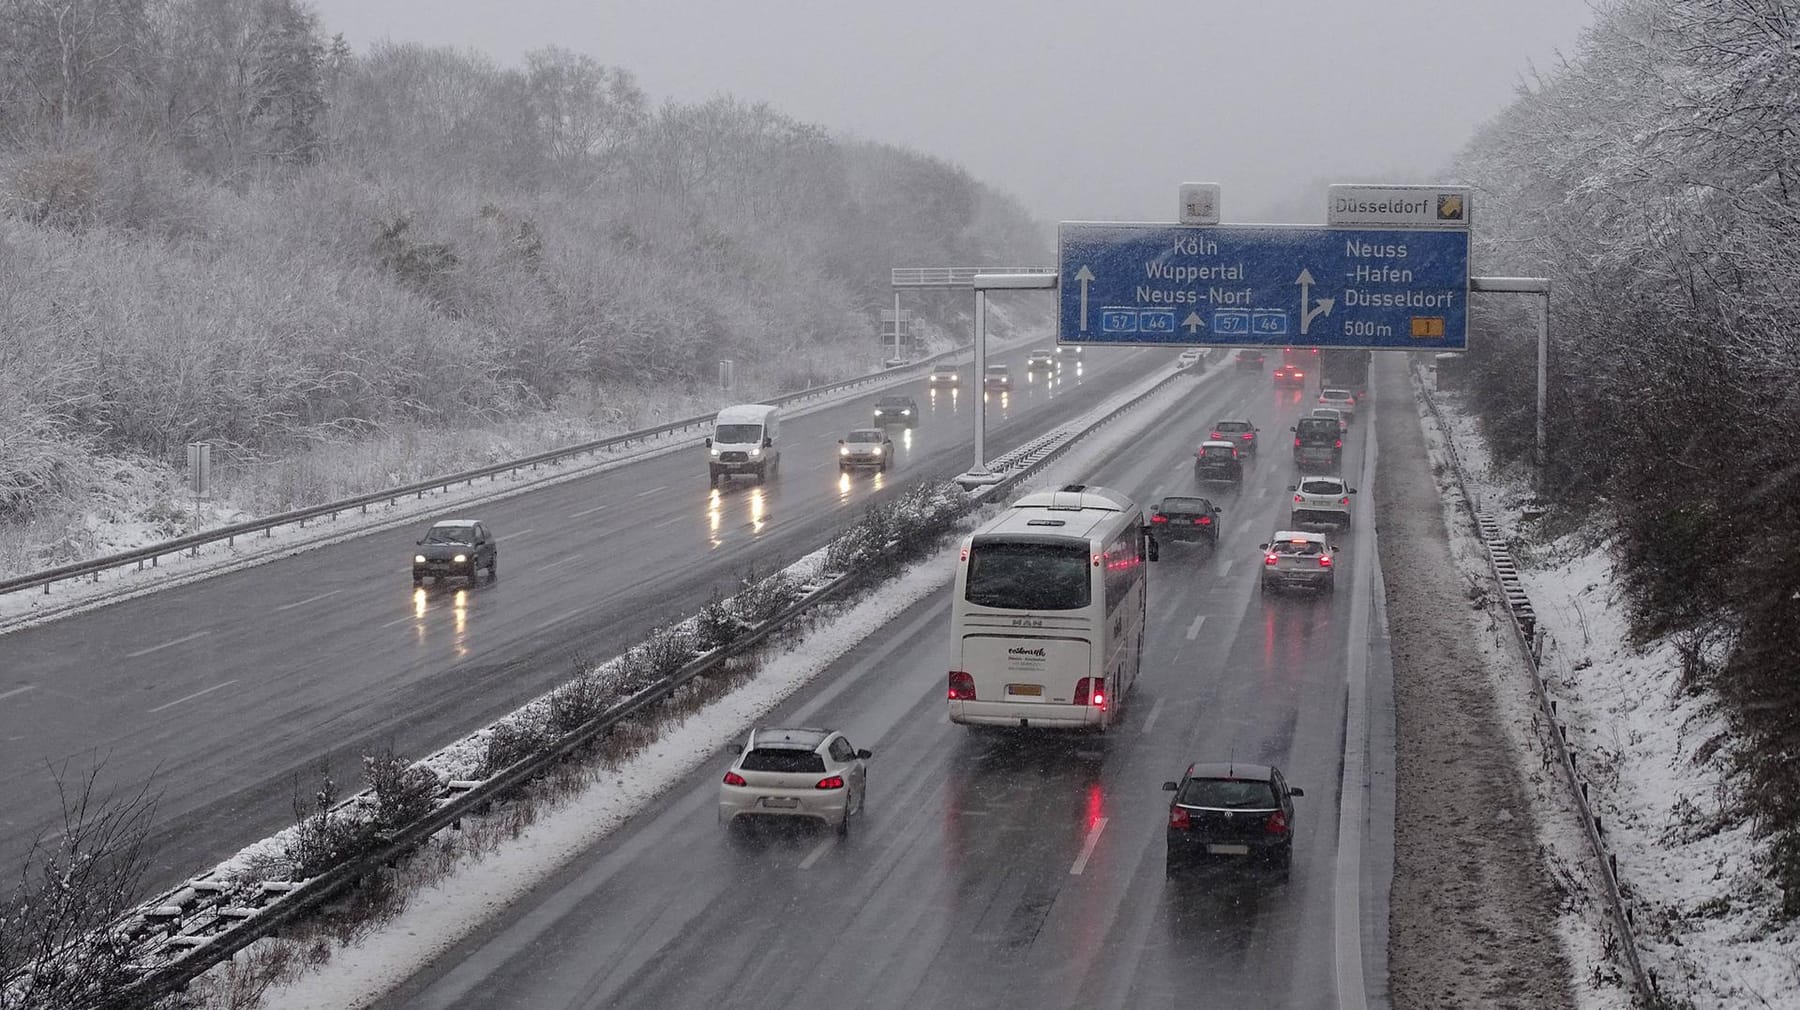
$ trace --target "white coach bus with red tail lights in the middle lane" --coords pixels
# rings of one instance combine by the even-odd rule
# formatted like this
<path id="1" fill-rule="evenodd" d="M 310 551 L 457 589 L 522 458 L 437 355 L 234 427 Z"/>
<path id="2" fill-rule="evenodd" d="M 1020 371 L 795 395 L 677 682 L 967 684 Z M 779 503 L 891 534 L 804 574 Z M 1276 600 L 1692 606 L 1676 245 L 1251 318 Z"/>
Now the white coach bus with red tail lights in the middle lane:
<path id="1" fill-rule="evenodd" d="M 950 720 L 1112 726 L 1143 657 L 1156 540 L 1111 488 L 1037 491 L 963 540 L 950 605 Z"/>

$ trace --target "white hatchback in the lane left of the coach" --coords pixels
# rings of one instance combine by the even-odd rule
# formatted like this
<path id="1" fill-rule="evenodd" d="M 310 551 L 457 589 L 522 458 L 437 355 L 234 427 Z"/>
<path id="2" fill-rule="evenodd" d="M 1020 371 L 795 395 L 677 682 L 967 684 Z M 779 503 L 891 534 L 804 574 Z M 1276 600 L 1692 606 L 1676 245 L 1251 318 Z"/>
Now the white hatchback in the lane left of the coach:
<path id="1" fill-rule="evenodd" d="M 850 817 L 868 799 L 864 762 L 873 756 L 830 729 L 752 729 L 718 783 L 718 823 L 729 828 L 745 817 L 805 817 L 848 835 Z"/>

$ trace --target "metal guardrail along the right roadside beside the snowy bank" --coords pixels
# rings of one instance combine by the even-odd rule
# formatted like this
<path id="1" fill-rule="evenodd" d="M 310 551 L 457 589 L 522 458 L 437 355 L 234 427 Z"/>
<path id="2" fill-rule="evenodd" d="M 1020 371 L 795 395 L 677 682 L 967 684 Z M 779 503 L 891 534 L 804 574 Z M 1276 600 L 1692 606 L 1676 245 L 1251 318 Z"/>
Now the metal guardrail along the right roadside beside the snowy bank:
<path id="1" fill-rule="evenodd" d="M 1580 810 L 1582 828 L 1588 835 L 1588 844 L 1593 850 L 1595 859 L 1600 864 L 1600 879 L 1606 882 L 1606 904 L 1613 918 L 1613 927 L 1620 936 L 1620 951 L 1625 956 L 1625 967 L 1631 969 L 1633 987 L 1638 990 L 1638 997 L 1647 1005 L 1656 997 L 1656 987 L 1649 974 L 1643 970 L 1643 960 L 1638 954 L 1638 934 L 1636 918 L 1631 913 L 1631 906 L 1625 904 L 1625 897 L 1618 884 L 1618 855 L 1606 844 L 1606 825 L 1600 823 L 1600 816 L 1593 812 L 1588 801 L 1588 778 L 1580 774 L 1575 765 L 1575 749 L 1570 745 L 1568 724 L 1557 715 L 1557 700 L 1550 697 L 1550 684 L 1544 681 L 1541 668 L 1543 659 L 1543 628 L 1537 627 L 1537 610 L 1532 607 L 1530 596 L 1525 592 L 1525 583 L 1519 580 L 1519 569 L 1512 560 L 1512 549 L 1507 546 L 1505 537 L 1501 537 L 1499 522 L 1494 515 L 1483 508 L 1474 495 L 1469 493 L 1469 479 L 1463 470 L 1462 457 L 1456 454 L 1456 439 L 1451 436 L 1449 425 L 1444 423 L 1444 414 L 1438 410 L 1438 401 L 1431 394 L 1431 387 L 1426 385 L 1420 373 L 1413 371 L 1415 387 L 1431 410 L 1431 419 L 1436 421 L 1438 430 L 1444 432 L 1444 448 L 1451 459 L 1451 468 L 1456 472 L 1456 486 L 1462 491 L 1462 504 L 1474 520 L 1476 529 L 1481 535 L 1481 544 L 1487 547 L 1489 573 L 1499 583 L 1501 592 L 1507 598 L 1507 610 L 1512 614 L 1512 630 L 1517 636 L 1519 646 L 1525 650 L 1525 666 L 1532 672 L 1532 686 L 1537 695 L 1539 715 L 1550 726 L 1550 738 L 1555 745 L 1557 763 L 1562 767 L 1562 780 L 1570 787 L 1570 798 L 1575 799 L 1575 807 Z"/>

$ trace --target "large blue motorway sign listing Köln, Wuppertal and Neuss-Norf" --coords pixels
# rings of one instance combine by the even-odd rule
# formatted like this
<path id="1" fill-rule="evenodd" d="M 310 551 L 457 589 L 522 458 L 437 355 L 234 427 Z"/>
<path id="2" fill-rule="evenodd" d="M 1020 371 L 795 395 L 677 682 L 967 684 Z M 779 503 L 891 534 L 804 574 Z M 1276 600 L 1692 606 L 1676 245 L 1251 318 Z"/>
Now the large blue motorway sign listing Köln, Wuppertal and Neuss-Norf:
<path id="1" fill-rule="evenodd" d="M 1066 221 L 1057 274 L 1067 344 L 1469 344 L 1465 230 Z"/>

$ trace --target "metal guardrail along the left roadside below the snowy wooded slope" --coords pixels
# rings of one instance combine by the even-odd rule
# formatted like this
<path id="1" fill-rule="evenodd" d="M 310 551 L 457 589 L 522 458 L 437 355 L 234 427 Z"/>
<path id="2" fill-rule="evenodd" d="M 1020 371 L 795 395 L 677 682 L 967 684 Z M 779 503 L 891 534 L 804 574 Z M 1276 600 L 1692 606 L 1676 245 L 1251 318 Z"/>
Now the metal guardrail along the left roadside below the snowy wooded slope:
<path id="1" fill-rule="evenodd" d="M 900 376 L 911 376 L 914 371 L 922 369 L 923 365 L 931 365 L 931 364 L 936 364 L 936 362 L 941 362 L 941 360 L 949 360 L 949 358 L 954 358 L 954 356 L 959 356 L 959 355 L 967 355 L 967 353 L 968 353 L 967 346 L 954 347 L 950 351 L 941 351 L 938 355 L 918 358 L 914 362 L 909 362 L 904 367 L 884 369 L 884 371 L 878 371 L 878 373 L 869 373 L 869 374 L 862 374 L 862 376 L 855 376 L 855 378 L 846 378 L 846 380 L 833 382 L 833 383 L 828 383 L 828 385 L 815 385 L 812 389 L 803 389 L 799 392 L 788 392 L 788 394 L 783 394 L 783 396 L 767 398 L 765 401 L 767 403 L 774 403 L 774 405 L 787 405 L 787 403 L 799 403 L 799 401 L 805 401 L 805 400 L 814 400 L 814 398 L 819 398 L 819 396 L 830 396 L 833 392 L 842 392 L 846 389 L 855 389 L 859 385 L 871 385 L 871 383 L 880 383 L 880 382 L 895 380 L 895 378 L 900 378 Z M 367 513 L 371 504 L 382 504 L 382 502 L 394 504 L 400 499 L 409 497 L 409 495 L 412 495 L 412 497 L 425 497 L 427 491 L 436 491 L 439 488 L 448 490 L 454 484 L 473 484 L 475 481 L 481 481 L 484 477 L 488 481 L 493 481 L 493 479 L 499 479 L 502 473 L 511 475 L 511 473 L 517 473 L 517 472 L 527 470 L 527 468 L 529 470 L 536 470 L 540 466 L 563 463 L 563 461 L 572 459 L 576 455 L 590 455 L 594 452 L 605 452 L 608 448 L 617 448 L 617 446 L 623 446 L 623 445 L 632 445 L 632 443 L 639 443 L 639 441 L 657 439 L 657 437 L 670 436 L 670 434 L 675 434 L 675 432 L 682 432 L 682 430 L 688 430 L 688 428 L 695 428 L 695 427 L 700 427 L 700 425 L 709 425 L 713 421 L 713 418 L 716 418 L 716 416 L 718 416 L 718 412 L 715 410 L 711 414 L 698 414 L 698 416 L 693 416 L 693 418 L 682 418 L 679 421 L 670 421 L 666 425 L 655 425 L 655 427 L 650 427 L 650 428 L 637 428 L 637 430 L 632 430 L 632 432 L 623 432 L 623 434 L 617 434 L 617 436 L 608 436 L 608 437 L 589 441 L 589 443 L 581 443 L 581 445 L 571 445 L 571 446 L 563 446 L 563 448 L 553 448 L 553 450 L 547 450 L 547 452 L 538 452 L 535 455 L 526 455 L 522 459 L 509 459 L 506 463 L 493 463 L 493 464 L 488 464 L 488 466 L 477 466 L 475 470 L 463 470 L 459 473 L 446 473 L 446 475 L 441 475 L 441 477 L 432 477 L 428 481 L 416 481 L 412 484 L 403 484 L 403 486 L 398 486 L 398 488 L 383 488 L 380 491 L 369 491 L 369 493 L 364 493 L 364 495 L 355 495 L 355 497 L 335 500 L 335 502 L 324 502 L 324 504 L 317 504 L 317 506 L 310 506 L 310 508 L 284 511 L 284 513 L 279 513 L 279 515 L 266 515 L 266 517 L 250 519 L 250 520 L 245 520 L 245 522 L 234 522 L 230 526 L 220 526 L 216 529 L 207 529 L 207 531 L 202 531 L 202 533 L 191 533 L 187 537 L 176 537 L 173 540 L 162 540 L 158 544 L 149 544 L 149 546 L 144 546 L 144 547 L 135 547 L 131 551 L 121 551 L 121 553 L 115 553 L 115 555 L 101 556 L 101 558 L 88 558 L 85 562 L 72 562 L 72 564 L 67 564 L 67 565 L 58 565 L 58 567 L 52 567 L 52 569 L 40 569 L 40 571 L 34 571 L 34 573 L 29 573 L 29 574 L 14 576 L 14 578 L 4 578 L 4 580 L 0 580 L 0 596 L 9 594 L 9 592 L 18 592 L 18 591 L 23 591 L 23 589 L 36 589 L 36 587 L 43 587 L 43 592 L 49 594 L 50 592 L 50 585 L 54 585 L 58 582 L 68 582 L 68 580 L 88 578 L 88 576 L 99 578 L 99 573 L 103 573 L 103 571 L 119 569 L 119 567 L 126 567 L 126 565 L 133 565 L 133 564 L 139 569 L 142 569 L 144 562 L 149 562 L 149 565 L 155 567 L 158 558 L 164 558 L 164 556 L 169 556 L 169 555 L 180 555 L 182 551 L 194 551 L 194 549 L 203 547 L 207 544 L 218 544 L 221 540 L 227 542 L 227 544 L 232 544 L 232 542 L 236 542 L 238 537 L 248 537 L 248 535 L 254 535 L 254 533 L 263 533 L 265 537 L 270 537 L 277 526 L 293 526 L 293 524 L 306 526 L 306 522 L 311 520 L 311 519 L 337 519 L 338 513 L 353 511 L 353 510 L 360 510 L 360 511 Z"/>

